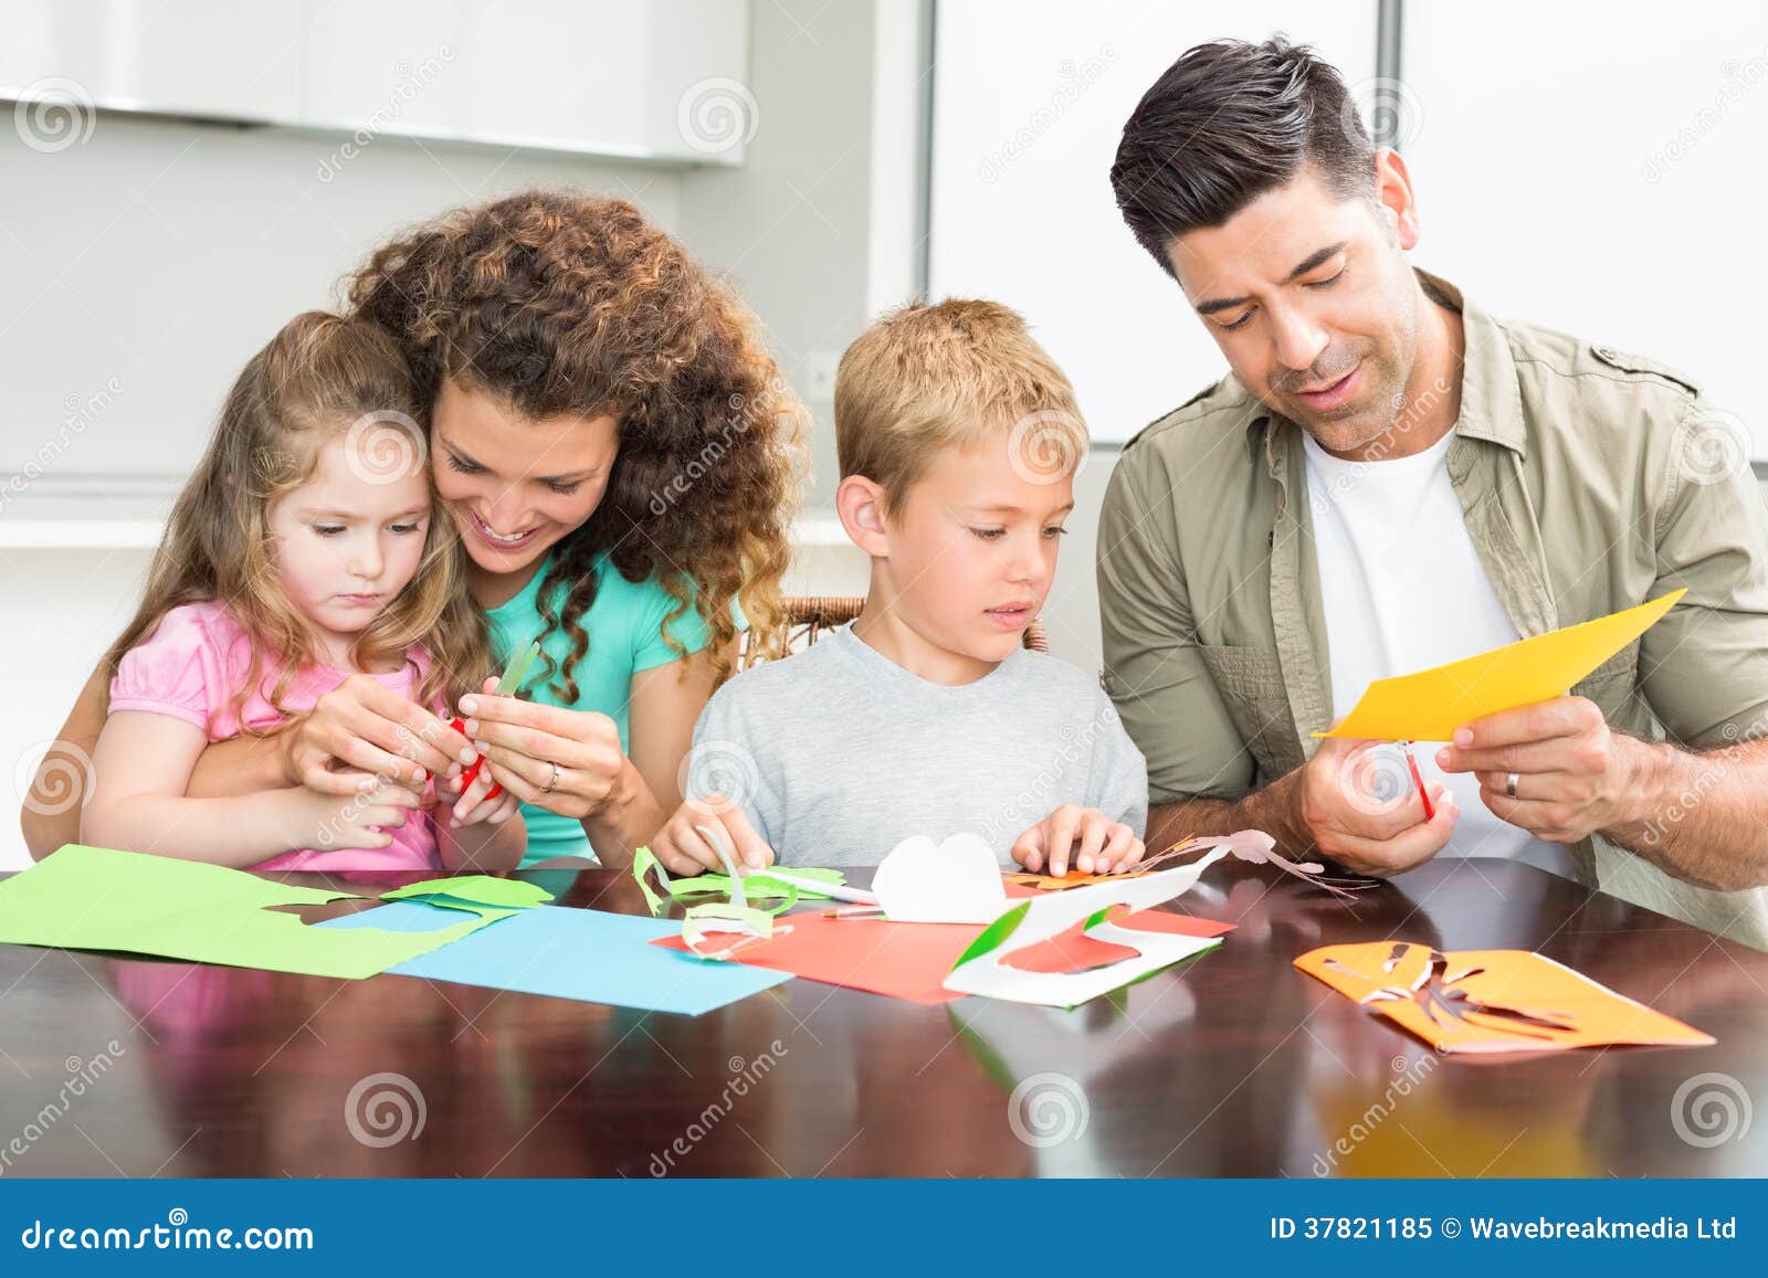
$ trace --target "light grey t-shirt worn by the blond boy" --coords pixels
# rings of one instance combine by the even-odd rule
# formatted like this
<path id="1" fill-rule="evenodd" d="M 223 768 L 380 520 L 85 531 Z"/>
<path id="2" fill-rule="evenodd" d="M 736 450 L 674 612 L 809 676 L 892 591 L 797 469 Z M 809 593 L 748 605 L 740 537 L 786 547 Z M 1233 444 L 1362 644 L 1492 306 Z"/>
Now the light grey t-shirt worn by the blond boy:
<path id="1" fill-rule="evenodd" d="M 1147 822 L 1147 771 L 1094 679 L 1015 652 L 976 682 L 909 673 L 843 626 L 725 684 L 684 795 L 741 804 L 780 864 L 870 866 L 911 834 L 979 834 L 1002 866 L 1064 803 Z"/>

